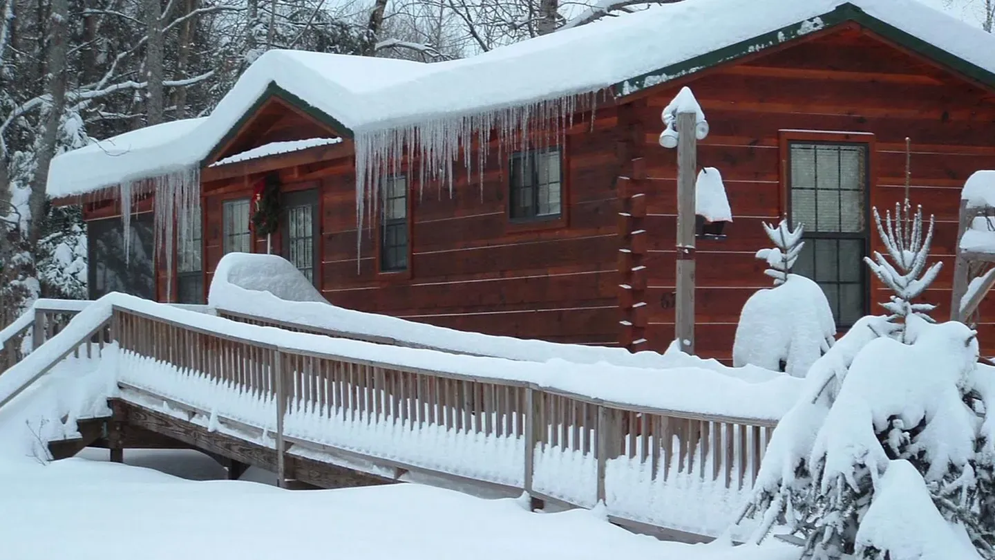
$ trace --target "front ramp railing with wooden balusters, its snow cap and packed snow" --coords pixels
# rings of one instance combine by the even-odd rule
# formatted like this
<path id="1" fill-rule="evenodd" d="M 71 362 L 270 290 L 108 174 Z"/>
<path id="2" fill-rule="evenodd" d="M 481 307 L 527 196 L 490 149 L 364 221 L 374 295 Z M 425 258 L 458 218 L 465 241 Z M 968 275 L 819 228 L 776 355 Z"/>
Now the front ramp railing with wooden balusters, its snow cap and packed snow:
<path id="1" fill-rule="evenodd" d="M 291 454 L 344 452 L 568 505 L 605 502 L 619 519 L 698 534 L 717 533 L 745 498 L 786 397 L 777 384 L 693 368 L 654 378 L 457 356 L 119 303 L 125 398 L 171 402 L 214 428 L 250 426 L 253 440 Z"/>

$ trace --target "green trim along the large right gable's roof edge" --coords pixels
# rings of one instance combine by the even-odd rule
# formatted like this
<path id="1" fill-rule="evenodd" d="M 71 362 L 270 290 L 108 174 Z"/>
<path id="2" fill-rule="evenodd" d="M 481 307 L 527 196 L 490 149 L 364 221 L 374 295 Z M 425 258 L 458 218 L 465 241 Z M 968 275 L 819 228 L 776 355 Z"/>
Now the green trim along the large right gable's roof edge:
<path id="1" fill-rule="evenodd" d="M 758 35 L 752 39 L 740 41 L 734 45 L 729 45 L 710 53 L 698 55 L 686 61 L 619 82 L 614 86 L 615 97 L 623 98 L 631 96 L 643 90 L 672 82 L 707 68 L 776 47 L 809 35 L 810 33 L 829 29 L 846 22 L 858 23 L 923 57 L 942 64 L 986 86 L 995 88 L 995 74 L 992 72 L 952 55 L 878 18 L 870 16 L 860 7 L 847 2 L 839 5 L 831 12 L 793 23 L 769 33 Z"/>

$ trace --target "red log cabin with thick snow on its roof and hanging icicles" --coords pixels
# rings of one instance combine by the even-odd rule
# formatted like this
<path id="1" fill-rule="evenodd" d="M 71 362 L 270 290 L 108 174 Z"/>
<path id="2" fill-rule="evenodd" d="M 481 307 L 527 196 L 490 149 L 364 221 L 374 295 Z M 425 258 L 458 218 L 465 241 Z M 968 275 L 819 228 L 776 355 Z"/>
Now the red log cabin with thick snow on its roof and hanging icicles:
<path id="1" fill-rule="evenodd" d="M 995 162 L 993 73 L 995 39 L 914 0 L 695 0 L 433 64 L 273 51 L 210 116 L 60 155 L 48 188 L 84 204 L 95 298 L 200 303 L 223 254 L 269 250 L 343 307 L 663 351 L 677 157 L 661 111 L 688 86 L 710 126 L 697 162 L 734 214 L 721 236 L 699 228 L 697 354 L 727 360 L 770 286 L 762 222 L 805 224 L 795 272 L 841 332 L 879 312 L 889 293 L 861 259 L 881 250 L 872 209 L 904 196 L 906 139 L 948 316 L 960 189 Z"/>

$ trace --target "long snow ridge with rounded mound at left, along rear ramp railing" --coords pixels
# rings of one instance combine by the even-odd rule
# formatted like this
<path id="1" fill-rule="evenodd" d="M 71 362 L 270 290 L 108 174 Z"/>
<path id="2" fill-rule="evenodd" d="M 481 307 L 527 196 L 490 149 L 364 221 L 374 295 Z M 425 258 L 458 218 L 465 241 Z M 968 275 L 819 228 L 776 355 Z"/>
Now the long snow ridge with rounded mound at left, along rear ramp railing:
<path id="1" fill-rule="evenodd" d="M 630 368 L 696 368 L 749 383 L 782 377 L 756 366 L 729 368 L 715 360 L 702 360 L 678 350 L 666 354 L 649 351 L 631 354 L 621 348 L 492 336 L 344 309 L 327 303 L 293 264 L 278 255 L 229 253 L 222 257 L 211 280 L 208 304 L 219 311 L 457 354 L 528 362 L 604 363 Z"/>

